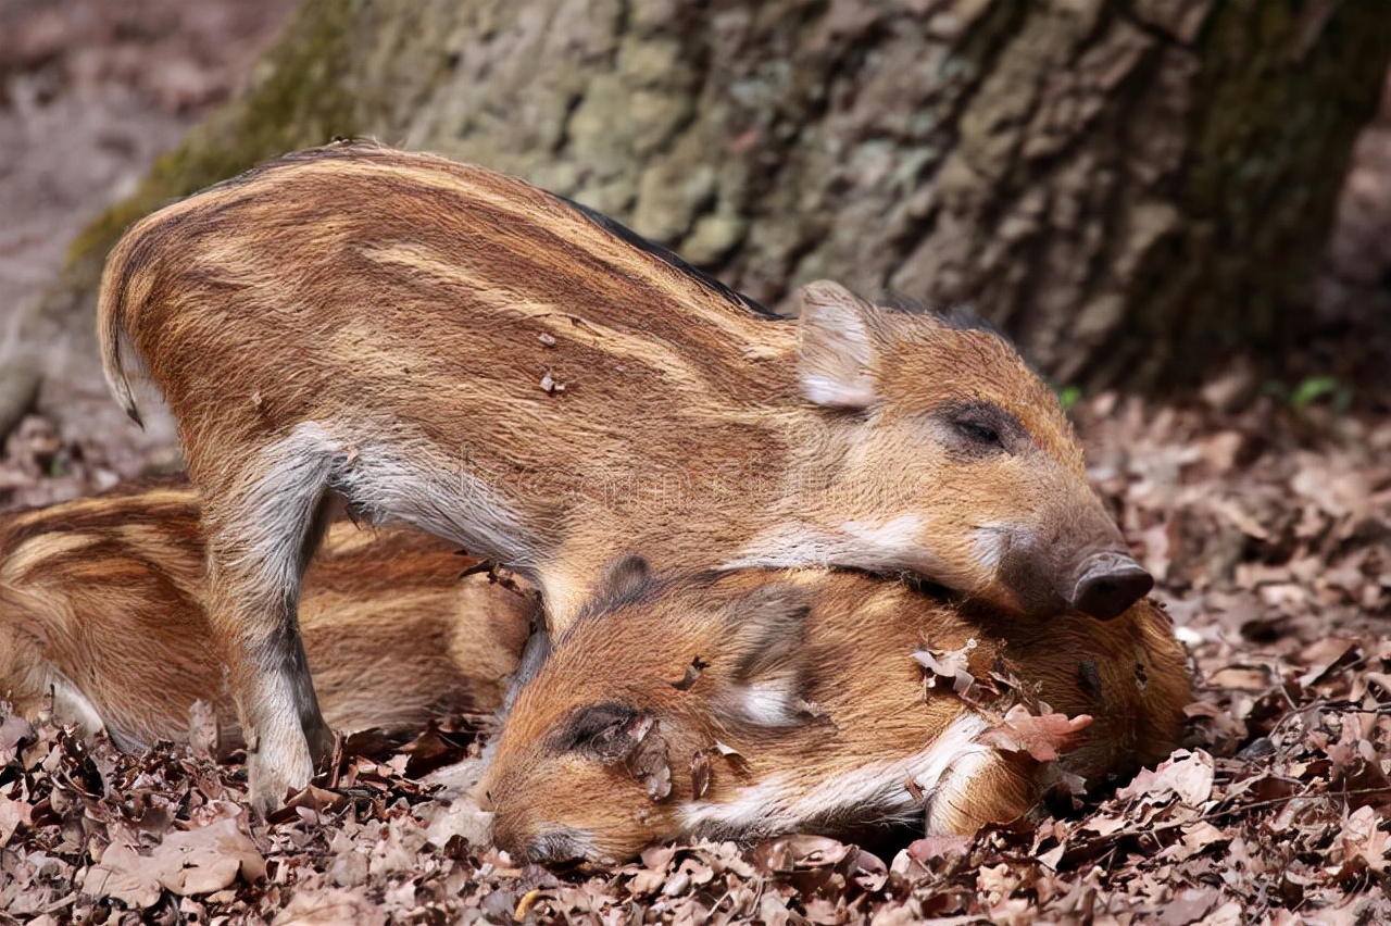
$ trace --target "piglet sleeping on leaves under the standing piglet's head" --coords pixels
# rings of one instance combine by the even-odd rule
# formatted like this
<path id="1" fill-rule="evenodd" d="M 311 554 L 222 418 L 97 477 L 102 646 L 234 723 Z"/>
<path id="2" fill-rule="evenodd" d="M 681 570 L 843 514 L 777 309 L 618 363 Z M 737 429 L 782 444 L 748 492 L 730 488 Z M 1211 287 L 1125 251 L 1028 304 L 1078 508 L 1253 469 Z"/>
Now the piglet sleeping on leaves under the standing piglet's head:
<path id="1" fill-rule="evenodd" d="M 531 861 L 679 837 L 974 833 L 1177 744 L 1189 679 L 1149 602 L 990 615 L 846 571 L 609 580 L 508 719 L 480 801 Z"/>

